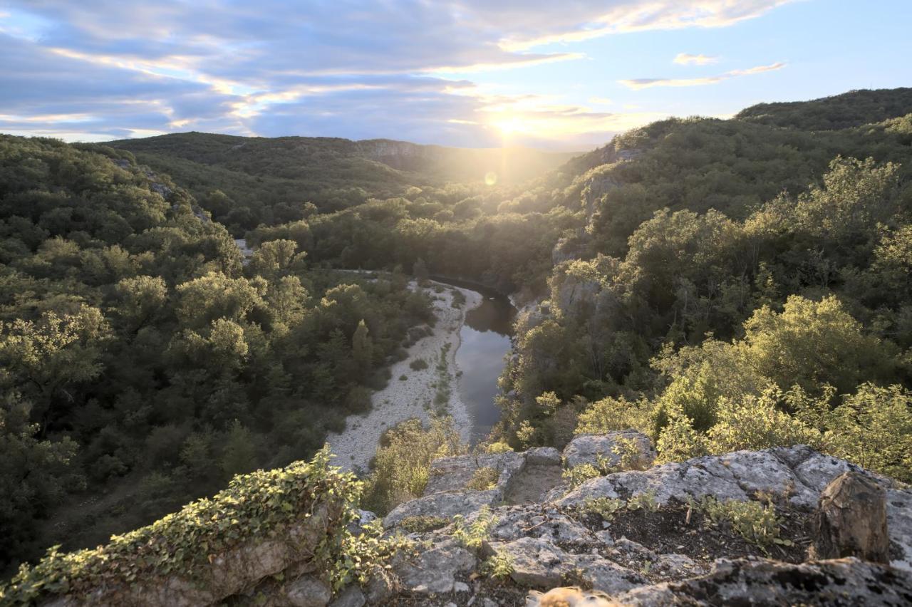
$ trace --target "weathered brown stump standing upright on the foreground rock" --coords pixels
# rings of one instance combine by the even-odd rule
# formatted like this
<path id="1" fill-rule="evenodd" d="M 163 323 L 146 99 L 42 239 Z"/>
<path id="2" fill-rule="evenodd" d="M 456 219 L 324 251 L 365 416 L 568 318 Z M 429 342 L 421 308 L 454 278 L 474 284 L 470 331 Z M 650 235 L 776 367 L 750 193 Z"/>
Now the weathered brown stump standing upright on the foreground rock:
<path id="1" fill-rule="evenodd" d="M 814 516 L 815 559 L 854 556 L 890 562 L 886 492 L 857 472 L 844 472 L 820 494 Z"/>

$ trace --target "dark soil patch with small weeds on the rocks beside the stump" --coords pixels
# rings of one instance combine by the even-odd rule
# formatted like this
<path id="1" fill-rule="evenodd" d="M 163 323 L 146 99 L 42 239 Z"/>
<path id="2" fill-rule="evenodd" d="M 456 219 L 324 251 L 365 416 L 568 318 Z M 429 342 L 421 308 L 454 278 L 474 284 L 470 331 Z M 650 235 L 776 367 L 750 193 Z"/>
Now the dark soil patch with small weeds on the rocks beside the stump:
<path id="1" fill-rule="evenodd" d="M 624 550 L 623 538 L 642 544 L 648 550 L 658 554 L 683 554 L 693 561 L 709 566 L 720 558 L 740 558 L 758 556 L 778 559 L 786 562 L 800 563 L 807 558 L 807 547 L 810 544 L 808 515 L 793 509 L 777 509 L 777 516 L 782 518 L 780 537 L 791 540 L 791 546 L 774 544 L 764 551 L 761 547 L 744 540 L 731 529 L 728 523 L 711 524 L 700 511 L 693 510 L 688 518 L 689 508 L 685 504 L 671 503 L 656 512 L 648 510 L 624 510 L 618 512 L 612 520 L 604 524 L 597 514 L 575 514 L 590 530 L 608 530 L 617 542 L 617 548 Z M 617 554 L 606 555 L 617 561 Z M 648 571 L 648 565 L 638 562 L 637 555 L 630 553 L 630 563 L 618 564 L 632 569 Z M 642 560 L 642 559 L 640 559 Z"/>

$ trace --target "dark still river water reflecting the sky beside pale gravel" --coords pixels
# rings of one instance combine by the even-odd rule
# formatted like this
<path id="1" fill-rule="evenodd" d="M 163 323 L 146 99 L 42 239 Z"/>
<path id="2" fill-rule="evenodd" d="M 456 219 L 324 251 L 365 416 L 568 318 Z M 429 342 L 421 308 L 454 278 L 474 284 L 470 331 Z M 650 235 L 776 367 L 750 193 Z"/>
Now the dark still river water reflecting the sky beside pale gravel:
<path id="1" fill-rule="evenodd" d="M 472 442 L 477 442 L 501 418 L 494 396 L 500 394 L 497 378 L 503 370 L 503 356 L 510 352 L 516 308 L 502 294 L 479 284 L 433 278 L 482 295 L 482 304 L 466 313 L 460 331 L 461 345 L 456 351 L 456 365 L 462 371 L 458 381 L 460 396 L 474 419 Z"/>

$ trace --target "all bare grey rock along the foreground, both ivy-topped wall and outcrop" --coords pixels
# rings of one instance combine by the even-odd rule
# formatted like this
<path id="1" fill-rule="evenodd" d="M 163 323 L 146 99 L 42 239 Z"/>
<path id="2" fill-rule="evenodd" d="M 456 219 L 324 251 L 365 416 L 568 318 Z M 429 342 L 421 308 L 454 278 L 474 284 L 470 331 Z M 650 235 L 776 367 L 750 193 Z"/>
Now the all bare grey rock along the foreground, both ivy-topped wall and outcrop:
<path id="1" fill-rule="evenodd" d="M 203 535 L 192 540 L 200 545 L 181 544 L 213 552 L 208 561 L 194 561 L 194 578 L 174 571 L 112 584 L 110 576 L 120 575 L 120 568 L 110 563 L 122 562 L 130 550 L 139 557 L 144 546 L 162 540 L 144 532 L 141 541 L 119 551 L 98 549 L 114 560 L 96 570 L 94 588 L 73 578 L 81 583 L 76 596 L 59 578 L 33 576 L 30 583 L 50 588 L 32 596 L 54 605 L 493 607 L 545 605 L 536 593 L 575 585 L 594 592 L 586 602 L 594 605 L 912 603 L 912 491 L 906 487 L 804 446 L 660 466 L 653 466 L 655 456 L 648 437 L 627 430 L 576 437 L 563 453 L 534 448 L 438 459 L 424 495 L 383 520 L 385 535 L 399 537 L 406 548 L 389 561 L 374 540 L 346 552 L 346 559 L 376 560 L 371 564 L 378 567 L 362 583 L 349 580 L 336 592 L 321 569 L 326 561 L 314 554 L 325 552 L 321 546 L 332 537 L 343 505 L 306 488 L 312 487 L 308 478 L 326 478 L 320 482 L 347 491 L 350 480 L 325 466 L 295 468 L 285 485 L 270 478 L 260 486 L 267 493 L 280 486 L 304 489 L 296 500 L 283 493 L 299 512 L 223 550 L 200 544 Z M 284 474 L 280 478 L 289 477 Z M 860 487 L 881 496 L 891 562 L 808 561 L 822 491 L 834 478 L 853 475 Z M 349 529 L 367 529 L 375 518 L 361 512 Z M 212 523 L 200 524 L 205 530 Z M 302 524 L 306 532 L 296 531 Z M 133 562 L 125 571 L 135 569 Z M 98 571 L 105 573 L 98 577 Z"/>

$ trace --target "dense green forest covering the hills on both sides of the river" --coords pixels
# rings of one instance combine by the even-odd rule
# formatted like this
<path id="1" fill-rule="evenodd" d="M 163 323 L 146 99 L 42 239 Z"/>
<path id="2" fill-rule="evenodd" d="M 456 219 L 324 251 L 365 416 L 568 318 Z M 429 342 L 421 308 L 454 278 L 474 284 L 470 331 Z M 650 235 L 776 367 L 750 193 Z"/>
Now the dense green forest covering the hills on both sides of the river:
<path id="1" fill-rule="evenodd" d="M 0 568 L 311 457 L 433 322 L 416 268 L 524 305 L 481 449 L 636 427 L 664 461 L 805 443 L 912 480 L 912 89 L 493 185 L 220 137 L 0 137 Z M 332 272 L 359 268 L 389 278 Z M 390 433 L 383 507 L 451 442 Z"/>

